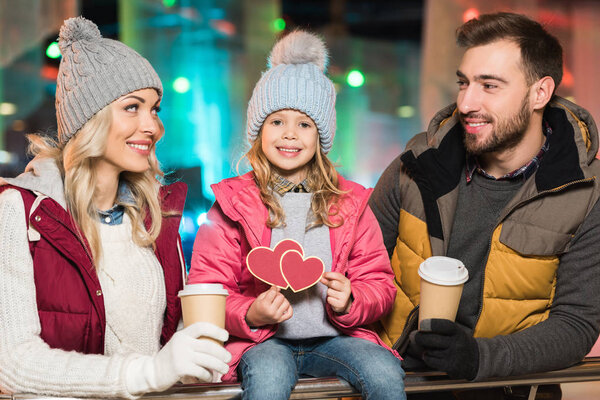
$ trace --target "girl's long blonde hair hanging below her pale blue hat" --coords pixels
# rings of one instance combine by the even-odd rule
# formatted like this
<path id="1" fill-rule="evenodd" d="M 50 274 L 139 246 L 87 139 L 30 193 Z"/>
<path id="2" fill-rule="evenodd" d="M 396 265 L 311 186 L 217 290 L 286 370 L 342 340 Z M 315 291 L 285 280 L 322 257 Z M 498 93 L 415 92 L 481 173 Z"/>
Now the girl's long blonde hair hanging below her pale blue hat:
<path id="1" fill-rule="evenodd" d="M 273 194 L 276 174 L 262 149 L 262 129 L 244 157 L 248 159 L 254 170 L 254 179 L 260 191 L 260 198 L 269 210 L 267 226 L 269 228 L 285 226 L 285 213 Z M 308 162 L 306 174 L 306 184 L 312 193 L 311 210 L 313 213 L 313 221 L 307 229 L 319 225 L 335 228 L 344 223 L 342 218 L 338 218 L 336 222 L 331 219 L 339 214 L 336 206 L 340 196 L 346 193 L 338 188 L 338 183 L 335 166 L 321 151 L 320 143 L 317 143 L 317 151 L 312 160 Z"/>

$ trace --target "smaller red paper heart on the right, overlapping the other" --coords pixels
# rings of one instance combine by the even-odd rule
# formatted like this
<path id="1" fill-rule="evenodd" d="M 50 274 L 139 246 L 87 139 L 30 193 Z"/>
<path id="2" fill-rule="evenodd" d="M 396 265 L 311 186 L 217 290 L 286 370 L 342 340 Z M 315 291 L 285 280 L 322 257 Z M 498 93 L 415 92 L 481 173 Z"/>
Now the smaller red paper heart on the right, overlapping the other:
<path id="1" fill-rule="evenodd" d="M 315 285 L 324 272 L 325 264 L 319 257 L 302 258 L 295 250 L 288 250 L 281 257 L 281 274 L 294 292 Z"/>

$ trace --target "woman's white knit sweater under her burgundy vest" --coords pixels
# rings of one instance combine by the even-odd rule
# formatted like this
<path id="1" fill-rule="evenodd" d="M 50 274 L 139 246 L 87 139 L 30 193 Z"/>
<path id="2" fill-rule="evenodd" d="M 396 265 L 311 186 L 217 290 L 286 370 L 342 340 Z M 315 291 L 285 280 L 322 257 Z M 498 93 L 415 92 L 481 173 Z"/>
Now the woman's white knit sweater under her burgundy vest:
<path id="1" fill-rule="evenodd" d="M 127 364 L 159 349 L 164 277 L 154 253 L 133 243 L 126 215 L 121 225 L 101 224 L 100 236 L 106 355 L 51 349 L 40 338 L 23 201 L 16 190 L 0 195 L 0 390 L 132 397 Z"/>

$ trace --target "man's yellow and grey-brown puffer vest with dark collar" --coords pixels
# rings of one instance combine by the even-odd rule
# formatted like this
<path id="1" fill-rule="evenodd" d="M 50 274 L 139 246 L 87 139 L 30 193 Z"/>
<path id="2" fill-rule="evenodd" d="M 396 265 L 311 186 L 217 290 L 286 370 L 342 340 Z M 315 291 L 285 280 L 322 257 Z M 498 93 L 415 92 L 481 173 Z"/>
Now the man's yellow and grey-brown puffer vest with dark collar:
<path id="1" fill-rule="evenodd" d="M 476 337 L 521 331 L 548 317 L 560 256 L 599 195 L 598 132 L 589 113 L 555 97 L 544 111 L 549 150 L 501 212 L 483 273 Z M 401 156 L 400 220 L 392 254 L 398 294 L 377 331 L 393 346 L 419 304 L 419 264 L 445 255 L 466 154 L 452 104 L 415 136 Z M 464 223 L 468 223 L 465 221 Z M 463 299 L 464 301 L 464 299 Z"/>

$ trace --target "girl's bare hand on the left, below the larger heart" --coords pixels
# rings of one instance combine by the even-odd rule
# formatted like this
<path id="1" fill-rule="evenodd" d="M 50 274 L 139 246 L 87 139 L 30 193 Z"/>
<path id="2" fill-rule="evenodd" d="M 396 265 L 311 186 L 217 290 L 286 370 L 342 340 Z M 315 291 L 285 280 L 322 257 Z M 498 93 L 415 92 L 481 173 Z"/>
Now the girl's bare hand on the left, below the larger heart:
<path id="1" fill-rule="evenodd" d="M 279 324 L 292 318 L 294 310 L 290 302 L 281 294 L 277 286 L 271 286 L 258 295 L 246 313 L 249 326 L 258 328 L 264 325 Z"/>

